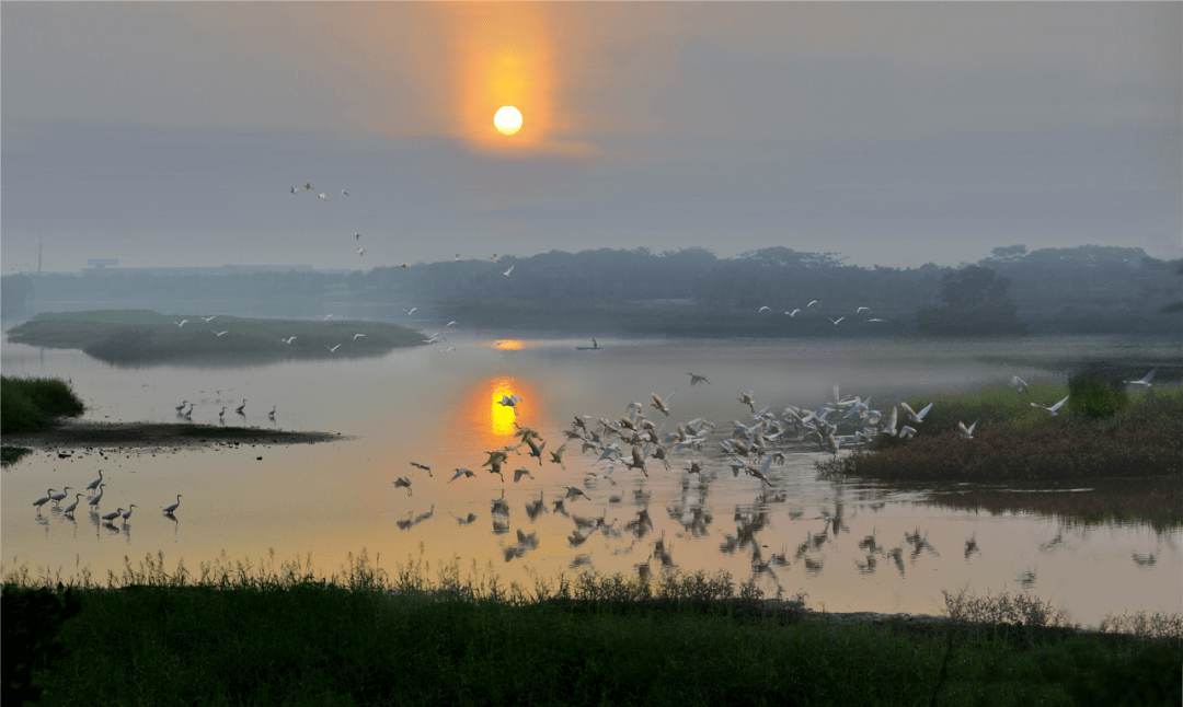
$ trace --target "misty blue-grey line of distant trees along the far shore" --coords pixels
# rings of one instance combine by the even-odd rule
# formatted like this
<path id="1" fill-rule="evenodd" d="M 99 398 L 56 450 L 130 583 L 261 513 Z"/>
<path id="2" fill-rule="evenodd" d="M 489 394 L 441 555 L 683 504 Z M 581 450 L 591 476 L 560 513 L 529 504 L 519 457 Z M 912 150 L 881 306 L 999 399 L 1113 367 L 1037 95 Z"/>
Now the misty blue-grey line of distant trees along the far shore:
<path id="1" fill-rule="evenodd" d="M 504 274 L 512 266 L 509 275 Z M 24 277 L 24 275 L 21 275 Z M 551 251 L 529 258 L 375 267 L 348 274 L 308 271 L 213 275 L 39 275 L 9 285 L 28 309 L 38 300 L 353 301 L 442 306 L 465 301 L 608 303 L 689 306 L 716 313 L 881 318 L 944 333 L 1030 331 L 1178 332 L 1178 264 L 1142 248 L 995 248 L 959 267 L 859 267 L 836 253 L 768 247 L 736 258 L 706 248 Z M 810 301 L 819 304 L 807 306 Z M 893 326 L 894 329 L 894 326 Z"/>

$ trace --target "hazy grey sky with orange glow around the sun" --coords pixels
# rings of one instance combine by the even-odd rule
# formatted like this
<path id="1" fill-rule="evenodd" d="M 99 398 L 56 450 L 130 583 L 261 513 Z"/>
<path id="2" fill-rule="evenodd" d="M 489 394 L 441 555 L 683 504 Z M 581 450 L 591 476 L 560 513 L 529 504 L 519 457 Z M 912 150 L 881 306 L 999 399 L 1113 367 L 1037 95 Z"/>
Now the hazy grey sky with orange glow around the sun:
<path id="1" fill-rule="evenodd" d="M 6 1 L 0 31 L 5 272 L 38 239 L 52 271 L 1183 255 L 1179 2 Z"/>

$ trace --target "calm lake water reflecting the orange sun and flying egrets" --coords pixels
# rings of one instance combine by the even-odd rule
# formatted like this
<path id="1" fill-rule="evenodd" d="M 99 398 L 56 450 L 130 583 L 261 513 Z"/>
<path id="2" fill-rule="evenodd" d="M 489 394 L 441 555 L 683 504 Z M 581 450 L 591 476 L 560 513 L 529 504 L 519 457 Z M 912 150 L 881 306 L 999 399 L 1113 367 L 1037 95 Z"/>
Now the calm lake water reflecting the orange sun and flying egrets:
<path id="1" fill-rule="evenodd" d="M 435 331 L 428 329 L 426 331 Z M 519 335 L 521 336 L 521 335 Z M 547 450 L 564 442 L 576 415 L 619 419 L 629 401 L 645 403 L 662 433 L 705 417 L 748 422 L 738 402 L 755 390 L 757 409 L 794 403 L 815 407 L 842 395 L 871 396 L 873 407 L 903 396 L 1004 382 L 1064 380 L 1054 362 L 1092 357 L 1178 357 L 1177 343 L 1105 337 L 1029 337 L 1014 340 L 881 342 L 600 339 L 599 351 L 577 351 L 577 339 L 493 339 L 448 335 L 440 345 L 369 359 L 285 362 L 264 365 L 153 365 L 117 368 L 79 351 L 4 344 L 9 376 L 62 376 L 88 404 L 86 419 L 177 421 L 182 400 L 196 402 L 193 421 L 293 430 L 340 432 L 355 439 L 323 445 L 180 452 L 106 449 L 105 456 L 70 459 L 38 453 L 2 474 L 4 571 L 97 578 L 130 557 L 163 551 L 166 566 L 190 570 L 224 551 L 231 560 L 304 558 L 330 573 L 349 552 L 366 549 L 394 570 L 408 557 L 441 563 L 458 558 L 492 566 L 503 582 L 595 570 L 636 573 L 672 564 L 684 571 L 725 570 L 755 576 L 769 592 L 806 592 L 830 611 L 939 614 L 942 590 L 1030 591 L 1095 625 L 1107 611 L 1183 611 L 1181 530 L 1144 524 L 1085 525 L 1027 513 L 991 515 L 925 504 L 926 488 L 838 484 L 816 479 L 820 452 L 795 452 L 771 468 L 772 486 L 731 474 L 717 447 L 674 454 L 672 471 L 649 461 L 649 476 L 616 465 L 616 486 L 586 482 L 594 453 L 569 443 L 565 468 L 510 454 L 506 481 L 481 468 L 486 450 L 513 443 L 512 410 L 502 395 L 523 398 L 516 421 L 538 430 Z M 444 351 L 454 346 L 454 351 Z M 710 385 L 690 387 L 687 371 Z M 222 393 L 215 393 L 221 389 Z M 649 394 L 668 395 L 672 416 L 649 407 Z M 246 400 L 245 416 L 234 408 Z M 1051 401 L 1048 401 L 1051 402 Z M 267 413 L 276 406 L 274 421 Z M 750 422 L 749 422 L 750 424 Z M 523 448 L 525 450 L 525 448 Z M 260 458 L 261 459 L 258 459 Z M 700 459 L 699 479 L 684 469 Z M 411 461 L 431 463 L 434 476 Z M 452 484 L 452 469 L 472 479 Z M 511 469 L 535 479 L 515 484 Z M 79 510 L 76 520 L 32 501 L 46 487 L 80 491 L 103 469 L 102 511 L 136 504 L 127 525 L 106 526 Z M 413 481 L 413 495 L 392 482 Z M 568 486 L 589 500 L 554 501 Z M 76 493 L 71 491 L 72 494 Z M 173 520 L 160 511 L 183 494 Z M 1087 493 L 1087 492 L 1080 492 Z M 504 499 L 508 512 L 494 508 Z M 537 500 L 545 511 L 528 513 Z M 69 501 L 65 501 L 69 502 Z M 63 502 L 63 505 L 65 505 Z M 85 506 L 85 497 L 83 499 Z M 476 515 L 471 523 L 470 514 Z M 603 526 L 580 537 L 584 519 Z M 517 532 L 535 533 L 519 545 Z M 873 536 L 871 546 L 866 539 Z M 972 539 L 976 546 L 968 546 Z M 658 540 L 668 549 L 654 556 Z M 788 565 L 754 572 L 759 546 L 768 560 Z M 878 547 L 873 551 L 872 547 Z M 898 553 L 891 551 L 899 549 Z M 870 556 L 870 557 L 868 557 Z"/>

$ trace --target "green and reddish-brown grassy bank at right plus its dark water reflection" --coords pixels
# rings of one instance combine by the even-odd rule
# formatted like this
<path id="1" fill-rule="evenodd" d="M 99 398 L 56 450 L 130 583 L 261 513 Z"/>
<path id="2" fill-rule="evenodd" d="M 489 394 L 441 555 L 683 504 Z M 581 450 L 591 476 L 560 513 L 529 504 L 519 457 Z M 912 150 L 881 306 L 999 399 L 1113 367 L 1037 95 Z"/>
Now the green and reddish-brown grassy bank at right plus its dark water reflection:
<path id="1" fill-rule="evenodd" d="M 1032 402 L 1068 402 L 1052 416 Z M 881 435 L 870 449 L 819 462 L 827 478 L 935 486 L 930 502 L 990 513 L 1035 512 L 1082 523 L 1137 521 L 1158 530 L 1183 524 L 1183 389 L 1006 387 L 932 402 L 911 440 Z M 972 439 L 958 423 L 977 422 Z M 900 410 L 900 426 L 905 415 Z M 949 482 L 972 487 L 949 488 Z"/>

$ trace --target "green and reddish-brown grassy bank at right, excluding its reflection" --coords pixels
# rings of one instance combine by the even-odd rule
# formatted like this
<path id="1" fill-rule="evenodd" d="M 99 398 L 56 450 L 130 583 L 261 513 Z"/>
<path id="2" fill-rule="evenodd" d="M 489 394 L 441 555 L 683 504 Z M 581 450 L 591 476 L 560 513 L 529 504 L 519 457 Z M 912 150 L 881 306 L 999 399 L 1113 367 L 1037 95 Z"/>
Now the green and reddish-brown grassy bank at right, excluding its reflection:
<path id="1" fill-rule="evenodd" d="M 1124 393 L 1124 391 L 1123 391 Z M 1124 393 L 1110 414 L 1069 401 L 1052 416 L 1067 387 L 1037 385 L 1029 394 L 990 388 L 909 401 L 932 411 L 912 440 L 880 436 L 874 448 L 819 463 L 827 476 L 891 481 L 1087 481 L 1183 474 L 1183 389 L 1179 384 Z M 1090 397 L 1086 388 L 1079 393 Z M 1112 401 L 1111 401 L 1112 402 Z M 906 422 L 900 411 L 900 426 Z M 957 423 L 977 421 L 974 439 Z M 1176 518 L 1178 513 L 1176 512 Z"/>

